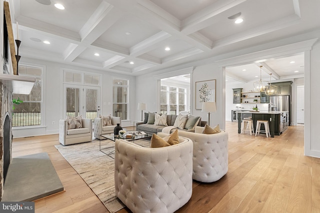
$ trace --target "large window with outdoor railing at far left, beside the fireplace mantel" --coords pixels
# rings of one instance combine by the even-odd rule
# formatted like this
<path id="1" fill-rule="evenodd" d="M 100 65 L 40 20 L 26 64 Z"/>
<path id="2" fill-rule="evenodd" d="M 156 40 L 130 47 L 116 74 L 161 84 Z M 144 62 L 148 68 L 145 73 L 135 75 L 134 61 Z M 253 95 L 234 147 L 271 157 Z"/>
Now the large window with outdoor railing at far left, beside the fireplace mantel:
<path id="1" fill-rule="evenodd" d="M 42 68 L 19 65 L 18 70 L 19 75 L 34 77 L 36 80 L 30 94 L 13 94 L 14 99 L 19 98 L 23 103 L 14 106 L 12 127 L 41 125 Z"/>

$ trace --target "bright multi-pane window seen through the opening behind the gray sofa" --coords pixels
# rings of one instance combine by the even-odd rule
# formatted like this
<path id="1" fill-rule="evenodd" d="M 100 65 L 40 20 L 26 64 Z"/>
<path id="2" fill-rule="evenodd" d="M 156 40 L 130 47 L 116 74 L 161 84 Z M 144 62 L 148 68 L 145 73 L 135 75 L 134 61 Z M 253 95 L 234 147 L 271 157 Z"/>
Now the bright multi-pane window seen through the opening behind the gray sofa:
<path id="1" fill-rule="evenodd" d="M 161 85 L 160 112 L 178 115 L 186 109 L 186 88 Z"/>

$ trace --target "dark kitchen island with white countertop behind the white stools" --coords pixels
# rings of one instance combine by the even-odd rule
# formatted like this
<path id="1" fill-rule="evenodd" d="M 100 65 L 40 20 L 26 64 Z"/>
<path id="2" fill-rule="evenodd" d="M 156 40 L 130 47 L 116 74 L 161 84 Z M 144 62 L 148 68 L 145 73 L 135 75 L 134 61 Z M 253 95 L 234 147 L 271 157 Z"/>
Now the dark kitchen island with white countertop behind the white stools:
<path id="1" fill-rule="evenodd" d="M 238 112 L 238 133 L 241 133 L 241 121 L 243 118 L 251 117 L 253 121 L 254 132 L 256 129 L 257 120 L 267 120 L 269 122 L 269 129 L 271 138 L 274 135 L 280 135 L 289 126 L 289 112 L 288 111 L 241 111 Z M 261 126 L 264 130 L 264 126 Z"/>

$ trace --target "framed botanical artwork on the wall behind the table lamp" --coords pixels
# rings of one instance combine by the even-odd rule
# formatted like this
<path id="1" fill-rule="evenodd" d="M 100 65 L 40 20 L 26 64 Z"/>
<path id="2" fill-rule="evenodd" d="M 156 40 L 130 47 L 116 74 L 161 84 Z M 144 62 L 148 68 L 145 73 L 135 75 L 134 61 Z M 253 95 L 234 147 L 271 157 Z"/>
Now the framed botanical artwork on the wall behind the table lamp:
<path id="1" fill-rule="evenodd" d="M 195 82 L 195 109 L 207 101 L 215 102 L 215 79 Z"/>

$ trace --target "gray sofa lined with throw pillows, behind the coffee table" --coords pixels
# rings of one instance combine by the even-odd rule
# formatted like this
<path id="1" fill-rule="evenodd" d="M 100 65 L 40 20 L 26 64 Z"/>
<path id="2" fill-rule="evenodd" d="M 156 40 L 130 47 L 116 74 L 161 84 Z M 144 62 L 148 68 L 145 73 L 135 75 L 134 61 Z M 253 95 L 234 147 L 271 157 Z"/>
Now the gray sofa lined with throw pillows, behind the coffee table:
<path id="1" fill-rule="evenodd" d="M 144 113 L 144 118 L 148 117 L 147 114 L 148 113 Z M 166 115 L 167 125 L 173 126 L 176 117 L 177 117 L 177 115 Z M 206 121 L 201 121 L 201 117 L 200 117 L 198 126 L 204 127 L 205 124 L 206 124 Z M 154 124 L 147 124 L 147 119 L 144 119 L 143 122 L 136 123 L 135 129 L 136 129 L 136 131 L 145 132 L 147 134 L 153 134 L 153 133 L 156 134 L 158 132 L 161 132 L 164 127 L 166 127 L 166 126 L 157 126 Z M 172 129 L 171 132 L 175 131 L 176 129 L 177 128 Z M 179 129 L 179 130 L 194 132 L 194 128 L 193 129 Z"/>

